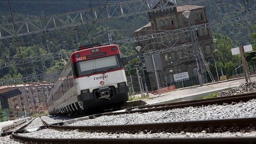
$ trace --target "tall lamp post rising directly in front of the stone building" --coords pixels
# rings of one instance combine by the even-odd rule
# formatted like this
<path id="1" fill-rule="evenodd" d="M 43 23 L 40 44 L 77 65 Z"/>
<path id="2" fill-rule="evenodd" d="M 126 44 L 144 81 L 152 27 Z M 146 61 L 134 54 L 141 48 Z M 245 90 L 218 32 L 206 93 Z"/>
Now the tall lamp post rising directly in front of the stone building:
<path id="1" fill-rule="evenodd" d="M 190 12 L 191 11 L 184 11 L 184 12 L 182 12 L 182 14 L 188 19 L 188 28 L 189 28 L 190 35 L 191 35 L 192 47 L 194 49 L 196 65 L 197 65 L 197 75 L 198 75 L 200 86 L 202 87 L 203 86 L 203 80 L 202 80 L 202 76 L 201 76 L 201 72 L 200 72 L 200 67 L 199 67 L 198 52 L 197 52 L 197 49 L 196 49 L 196 46 L 195 46 L 194 36 L 193 36 L 192 30 L 191 30 L 191 26 L 190 26 L 190 19 L 189 19 Z"/>

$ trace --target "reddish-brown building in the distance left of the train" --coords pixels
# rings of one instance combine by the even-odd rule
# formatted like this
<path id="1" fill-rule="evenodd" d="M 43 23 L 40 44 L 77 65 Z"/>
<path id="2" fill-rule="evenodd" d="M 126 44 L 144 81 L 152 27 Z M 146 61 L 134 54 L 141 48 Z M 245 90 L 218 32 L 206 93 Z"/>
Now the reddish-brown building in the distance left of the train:
<path id="1" fill-rule="evenodd" d="M 46 100 L 52 87 L 52 83 L 24 83 L 20 85 L 1 86 L 0 93 L 18 88 L 22 94 L 8 99 L 10 109 L 23 111 L 28 114 L 48 112 Z"/>

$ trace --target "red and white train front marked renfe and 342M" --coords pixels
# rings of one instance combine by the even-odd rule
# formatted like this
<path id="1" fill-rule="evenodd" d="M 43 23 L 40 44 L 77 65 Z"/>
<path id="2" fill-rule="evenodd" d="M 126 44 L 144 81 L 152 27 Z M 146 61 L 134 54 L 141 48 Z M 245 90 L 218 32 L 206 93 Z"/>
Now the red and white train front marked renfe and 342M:
<path id="1" fill-rule="evenodd" d="M 128 86 L 118 45 L 81 49 L 71 55 L 80 109 L 124 105 Z"/>

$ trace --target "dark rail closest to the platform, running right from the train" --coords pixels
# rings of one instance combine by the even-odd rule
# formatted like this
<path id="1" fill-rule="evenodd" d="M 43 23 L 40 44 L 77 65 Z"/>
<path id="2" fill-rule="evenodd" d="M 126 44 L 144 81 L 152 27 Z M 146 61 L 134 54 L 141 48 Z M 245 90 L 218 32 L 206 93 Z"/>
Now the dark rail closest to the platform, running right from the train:
<path id="1" fill-rule="evenodd" d="M 123 111 L 123 112 L 94 114 L 89 116 L 89 118 L 92 119 L 92 118 L 100 117 L 104 115 L 146 113 L 151 111 L 172 110 L 176 108 L 184 108 L 189 106 L 208 106 L 208 105 L 214 105 L 214 104 L 222 105 L 223 103 L 232 104 L 232 102 L 247 102 L 248 100 L 251 100 L 251 99 L 256 99 L 256 92 L 225 96 L 225 97 L 217 97 L 217 98 L 211 98 L 211 99 L 199 99 L 199 100 L 174 102 L 174 103 L 159 104 L 159 105 L 152 105 L 152 106 L 139 106 L 139 107 L 135 107 L 135 108 L 139 108 L 139 110 L 132 110 L 134 108 L 130 108 L 128 109 L 128 111 Z"/>

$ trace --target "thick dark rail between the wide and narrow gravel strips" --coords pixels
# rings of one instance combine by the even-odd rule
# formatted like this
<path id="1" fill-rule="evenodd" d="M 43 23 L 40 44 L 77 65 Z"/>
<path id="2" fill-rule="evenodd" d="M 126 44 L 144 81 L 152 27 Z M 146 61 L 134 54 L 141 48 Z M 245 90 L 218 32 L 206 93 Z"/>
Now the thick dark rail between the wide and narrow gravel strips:
<path id="1" fill-rule="evenodd" d="M 134 124 L 134 125 L 88 125 L 88 126 L 68 126 L 68 125 L 49 125 L 50 129 L 57 130 L 84 130 L 91 133 L 180 133 L 201 132 L 207 133 L 236 132 L 256 130 L 256 117 L 218 119 L 218 120 L 198 120 L 198 121 L 178 121 L 164 123 Z"/>

